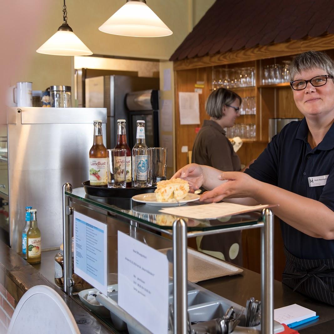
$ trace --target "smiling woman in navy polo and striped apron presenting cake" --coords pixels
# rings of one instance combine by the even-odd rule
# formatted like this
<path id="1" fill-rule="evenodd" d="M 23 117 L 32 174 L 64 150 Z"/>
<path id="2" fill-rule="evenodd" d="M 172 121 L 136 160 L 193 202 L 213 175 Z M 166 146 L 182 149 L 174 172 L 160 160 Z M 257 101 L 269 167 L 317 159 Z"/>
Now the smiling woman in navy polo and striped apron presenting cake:
<path id="1" fill-rule="evenodd" d="M 304 52 L 290 76 L 305 117 L 273 137 L 244 173 L 190 164 L 174 177 L 193 190 L 212 189 L 201 196 L 204 202 L 279 204 L 273 211 L 285 246 L 283 283 L 334 305 L 334 62 L 323 52 Z"/>

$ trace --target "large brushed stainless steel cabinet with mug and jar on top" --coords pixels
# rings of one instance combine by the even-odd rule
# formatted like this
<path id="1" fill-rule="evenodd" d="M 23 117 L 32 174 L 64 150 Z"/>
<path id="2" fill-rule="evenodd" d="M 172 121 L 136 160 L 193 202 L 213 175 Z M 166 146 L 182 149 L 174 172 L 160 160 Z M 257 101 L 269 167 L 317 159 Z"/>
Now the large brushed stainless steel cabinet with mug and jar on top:
<path id="1" fill-rule="evenodd" d="M 89 150 L 93 145 L 94 120 L 102 120 L 104 108 L 7 108 L 7 124 L 1 128 L 0 198 L 8 210 L 8 224 L 0 219 L 0 232 L 8 233 L 9 245 L 21 252 L 25 207 L 37 209 L 42 250 L 62 243 L 62 186 L 73 189 L 89 180 Z M 104 136 L 106 144 L 106 138 Z M 4 145 L 5 144 L 5 145 Z M 2 226 L 1 226 L 2 225 Z"/>

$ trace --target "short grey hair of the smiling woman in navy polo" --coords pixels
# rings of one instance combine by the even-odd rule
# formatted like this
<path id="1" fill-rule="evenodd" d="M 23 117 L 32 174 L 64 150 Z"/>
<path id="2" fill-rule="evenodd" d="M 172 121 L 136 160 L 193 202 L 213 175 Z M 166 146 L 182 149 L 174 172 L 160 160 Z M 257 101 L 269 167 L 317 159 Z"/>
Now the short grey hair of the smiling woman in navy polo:
<path id="1" fill-rule="evenodd" d="M 290 69 L 290 81 L 303 70 L 321 68 L 329 75 L 334 75 L 334 61 L 325 52 L 307 51 L 294 57 Z"/>

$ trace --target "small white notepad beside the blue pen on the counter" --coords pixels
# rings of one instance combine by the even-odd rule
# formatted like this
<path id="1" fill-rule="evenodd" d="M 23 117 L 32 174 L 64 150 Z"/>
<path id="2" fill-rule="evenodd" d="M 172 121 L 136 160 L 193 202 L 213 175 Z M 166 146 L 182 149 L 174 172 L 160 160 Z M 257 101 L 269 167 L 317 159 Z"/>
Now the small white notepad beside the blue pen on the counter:
<path id="1" fill-rule="evenodd" d="M 293 304 L 274 310 L 274 320 L 280 324 L 292 324 L 293 322 L 302 321 L 315 317 L 316 313 L 306 307 Z"/>

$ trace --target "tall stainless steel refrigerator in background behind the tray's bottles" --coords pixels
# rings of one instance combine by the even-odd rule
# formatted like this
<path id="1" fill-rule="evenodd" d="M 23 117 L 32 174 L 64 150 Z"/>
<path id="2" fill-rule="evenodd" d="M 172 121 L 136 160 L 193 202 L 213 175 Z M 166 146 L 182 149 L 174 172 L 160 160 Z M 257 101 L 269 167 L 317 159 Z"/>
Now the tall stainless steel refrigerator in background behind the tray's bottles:
<path id="1" fill-rule="evenodd" d="M 102 75 L 97 77 L 91 77 L 85 79 L 85 106 L 89 108 L 106 108 L 107 109 L 107 148 L 114 148 L 116 145 L 117 139 L 117 120 L 125 119 L 126 122 L 126 132 L 128 138 L 128 144 L 130 148 L 133 147 L 133 133 L 132 130 L 134 125 L 131 122 L 134 122 L 135 118 L 131 115 L 134 115 L 136 112 L 143 115 L 141 119 L 145 120 L 147 114 L 153 114 L 155 111 L 155 117 L 151 119 L 151 123 L 147 123 L 145 126 L 145 134 L 147 135 L 147 140 L 149 139 L 149 133 L 153 133 L 151 129 L 158 131 L 158 123 L 155 123 L 158 114 L 158 107 L 153 109 L 148 107 L 149 110 L 146 110 L 144 113 L 143 110 L 133 110 L 130 111 L 126 104 L 126 96 L 128 93 L 136 93 L 137 91 L 159 91 L 159 78 L 153 77 L 136 77 L 128 75 Z M 153 93 L 155 100 L 159 99 L 158 93 Z M 157 100 L 158 101 L 158 100 Z M 159 105 L 153 103 L 154 105 Z M 137 115 L 138 116 L 138 115 Z M 137 117 L 138 118 L 138 117 Z M 147 121 L 149 120 L 147 119 Z M 149 126 L 151 128 L 149 128 Z M 146 141 L 147 141 L 146 140 Z M 149 139 L 150 141 L 150 139 Z M 147 145 L 150 143 L 147 142 Z M 157 143 L 155 143 L 157 144 Z M 156 145 L 154 145 L 156 146 Z M 157 145 L 158 146 L 158 145 Z"/>

